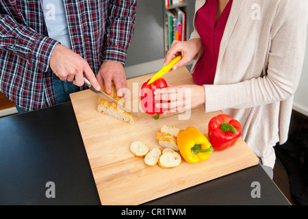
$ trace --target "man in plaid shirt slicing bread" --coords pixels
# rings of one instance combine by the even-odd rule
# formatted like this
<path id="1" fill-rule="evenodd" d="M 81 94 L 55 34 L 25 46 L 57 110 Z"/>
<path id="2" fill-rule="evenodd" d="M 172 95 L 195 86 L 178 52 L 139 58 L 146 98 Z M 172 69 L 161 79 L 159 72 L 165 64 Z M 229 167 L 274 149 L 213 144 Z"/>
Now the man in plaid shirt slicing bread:
<path id="1" fill-rule="evenodd" d="M 123 96 L 135 20 L 136 0 L 0 0 L 0 91 L 18 112 L 68 101 L 84 76 Z"/>

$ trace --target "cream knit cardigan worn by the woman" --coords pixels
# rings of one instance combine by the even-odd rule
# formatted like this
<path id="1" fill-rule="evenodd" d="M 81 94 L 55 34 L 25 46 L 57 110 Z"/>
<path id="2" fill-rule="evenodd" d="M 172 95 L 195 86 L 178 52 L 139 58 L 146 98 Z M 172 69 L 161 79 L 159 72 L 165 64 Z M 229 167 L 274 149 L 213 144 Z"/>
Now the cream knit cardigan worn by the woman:
<path id="1" fill-rule="evenodd" d="M 196 11 L 204 3 L 196 0 Z M 242 138 L 272 168 L 273 146 L 287 140 L 307 20 L 307 0 L 233 0 L 214 85 L 204 85 L 205 111 L 221 110 L 239 120 Z M 196 28 L 190 38 L 200 38 Z"/>

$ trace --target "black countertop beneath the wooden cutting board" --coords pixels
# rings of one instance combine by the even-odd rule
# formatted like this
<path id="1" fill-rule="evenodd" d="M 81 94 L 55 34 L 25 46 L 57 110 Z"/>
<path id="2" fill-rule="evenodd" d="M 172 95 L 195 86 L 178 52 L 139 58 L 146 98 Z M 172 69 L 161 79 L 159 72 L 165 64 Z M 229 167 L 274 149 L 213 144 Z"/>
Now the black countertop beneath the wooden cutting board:
<path id="1" fill-rule="evenodd" d="M 101 205 L 70 102 L 0 118 L 0 205 Z M 290 203 L 257 165 L 144 205 Z"/>

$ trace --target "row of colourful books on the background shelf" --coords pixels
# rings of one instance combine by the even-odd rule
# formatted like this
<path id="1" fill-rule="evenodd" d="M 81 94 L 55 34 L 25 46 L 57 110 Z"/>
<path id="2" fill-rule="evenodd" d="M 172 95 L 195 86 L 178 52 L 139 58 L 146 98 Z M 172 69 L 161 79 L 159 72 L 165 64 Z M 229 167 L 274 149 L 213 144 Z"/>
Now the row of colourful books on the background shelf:
<path id="1" fill-rule="evenodd" d="M 165 25 L 165 45 L 166 51 L 174 40 L 186 40 L 186 14 L 181 8 L 166 10 Z"/>

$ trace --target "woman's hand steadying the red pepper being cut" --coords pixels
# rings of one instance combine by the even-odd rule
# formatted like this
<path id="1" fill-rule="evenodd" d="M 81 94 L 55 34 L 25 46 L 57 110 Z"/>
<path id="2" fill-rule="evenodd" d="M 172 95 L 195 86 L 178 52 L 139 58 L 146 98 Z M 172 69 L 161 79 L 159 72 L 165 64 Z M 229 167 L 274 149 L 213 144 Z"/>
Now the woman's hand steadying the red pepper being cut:
<path id="1" fill-rule="evenodd" d="M 164 114 L 185 112 L 205 104 L 205 88 L 198 85 L 168 86 L 154 92 L 155 99 L 162 101 L 157 108 L 167 108 Z"/>

